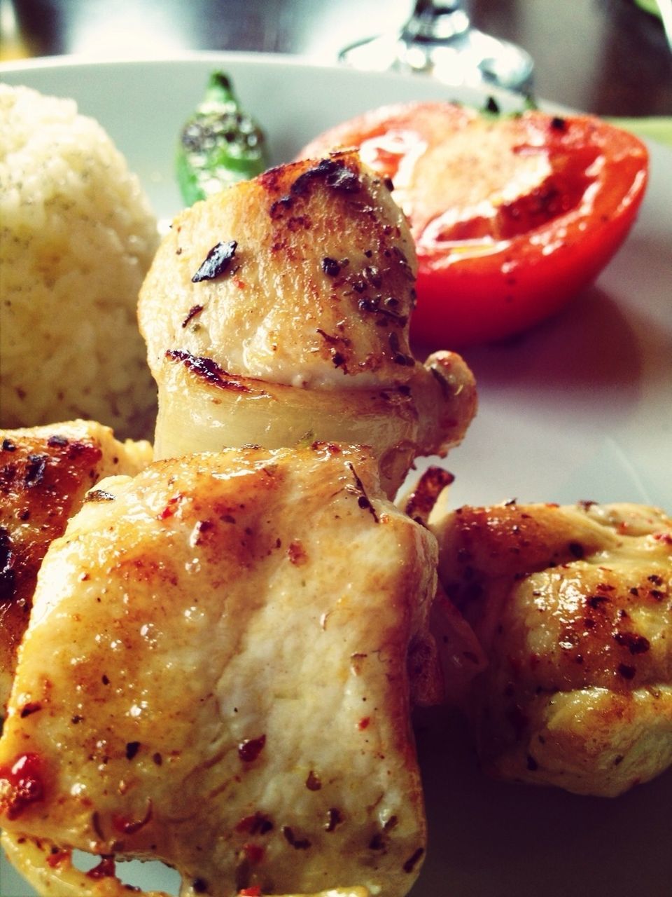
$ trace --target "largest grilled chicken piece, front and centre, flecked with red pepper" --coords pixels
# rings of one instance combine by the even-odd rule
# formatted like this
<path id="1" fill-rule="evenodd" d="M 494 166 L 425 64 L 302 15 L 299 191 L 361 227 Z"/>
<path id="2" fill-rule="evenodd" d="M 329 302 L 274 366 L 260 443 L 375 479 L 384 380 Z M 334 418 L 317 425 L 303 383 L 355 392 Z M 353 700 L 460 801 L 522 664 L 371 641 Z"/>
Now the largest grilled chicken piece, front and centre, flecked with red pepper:
<path id="1" fill-rule="evenodd" d="M 358 448 L 170 459 L 99 488 L 40 571 L 2 827 L 56 857 L 161 859 L 189 897 L 407 893 L 434 536 Z"/>

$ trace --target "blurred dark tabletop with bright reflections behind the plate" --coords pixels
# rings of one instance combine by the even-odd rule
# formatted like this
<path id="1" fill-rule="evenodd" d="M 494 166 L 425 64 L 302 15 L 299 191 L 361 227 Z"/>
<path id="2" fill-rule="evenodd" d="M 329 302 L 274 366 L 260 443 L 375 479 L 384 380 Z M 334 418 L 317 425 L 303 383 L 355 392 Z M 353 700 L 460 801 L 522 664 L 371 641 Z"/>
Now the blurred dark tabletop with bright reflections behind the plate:
<path id="1" fill-rule="evenodd" d="M 394 30 L 408 0 L 0 0 L 0 57 L 254 50 L 333 62 Z M 542 99 L 606 116 L 672 115 L 672 53 L 633 0 L 471 0 L 474 24 L 527 48 Z M 12 34 L 11 13 L 19 26 Z M 8 14 L 9 13 L 9 14 Z"/>

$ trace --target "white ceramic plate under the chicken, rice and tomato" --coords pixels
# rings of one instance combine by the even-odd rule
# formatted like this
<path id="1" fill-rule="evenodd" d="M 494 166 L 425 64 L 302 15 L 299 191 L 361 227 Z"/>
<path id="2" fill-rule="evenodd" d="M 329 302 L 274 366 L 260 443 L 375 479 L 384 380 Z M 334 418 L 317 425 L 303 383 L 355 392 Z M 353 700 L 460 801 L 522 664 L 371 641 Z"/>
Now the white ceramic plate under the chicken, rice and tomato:
<path id="1" fill-rule="evenodd" d="M 289 161 L 323 128 L 386 102 L 487 99 L 418 76 L 243 54 L 38 60 L 0 66 L 0 74 L 78 100 L 125 153 L 157 213 L 170 215 L 180 205 L 177 132 L 216 66 L 263 123 L 275 162 Z M 672 511 L 672 153 L 650 151 L 639 220 L 598 282 L 530 333 L 464 353 L 480 407 L 448 460 L 456 505 L 590 499 Z M 412 897 L 668 897 L 672 773 L 616 800 L 507 786 L 481 776 L 455 720 L 432 712 L 417 729 L 430 846 Z M 127 865 L 133 884 L 175 893 L 172 872 Z M 1 897 L 30 894 L 0 865 Z"/>

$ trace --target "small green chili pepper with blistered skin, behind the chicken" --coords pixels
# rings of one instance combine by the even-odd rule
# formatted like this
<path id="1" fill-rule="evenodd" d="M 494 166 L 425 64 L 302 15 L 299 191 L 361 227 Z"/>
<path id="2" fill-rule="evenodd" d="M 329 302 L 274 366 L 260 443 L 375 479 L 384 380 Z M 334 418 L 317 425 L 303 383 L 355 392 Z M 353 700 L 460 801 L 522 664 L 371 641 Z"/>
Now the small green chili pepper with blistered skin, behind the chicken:
<path id="1" fill-rule="evenodd" d="M 268 168 L 263 131 L 238 104 L 230 79 L 213 72 L 180 135 L 177 182 L 186 205 Z"/>

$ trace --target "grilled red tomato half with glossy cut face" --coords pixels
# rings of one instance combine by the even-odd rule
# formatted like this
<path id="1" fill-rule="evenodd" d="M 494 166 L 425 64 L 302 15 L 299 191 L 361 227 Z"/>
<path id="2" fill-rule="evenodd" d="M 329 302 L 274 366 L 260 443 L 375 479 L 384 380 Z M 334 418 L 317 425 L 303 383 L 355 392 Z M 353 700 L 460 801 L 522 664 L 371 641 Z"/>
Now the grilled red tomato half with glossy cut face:
<path id="1" fill-rule="evenodd" d="M 484 119 L 451 103 L 411 103 L 345 122 L 303 155 L 344 145 L 392 177 L 409 217 L 418 252 L 411 335 L 428 346 L 502 339 L 555 314 L 621 246 L 648 177 L 645 145 L 591 116 Z M 542 173 L 516 188 L 526 156 Z M 470 216 L 481 186 L 490 212 Z M 455 222 L 446 239 L 428 239 L 441 209 Z"/>

